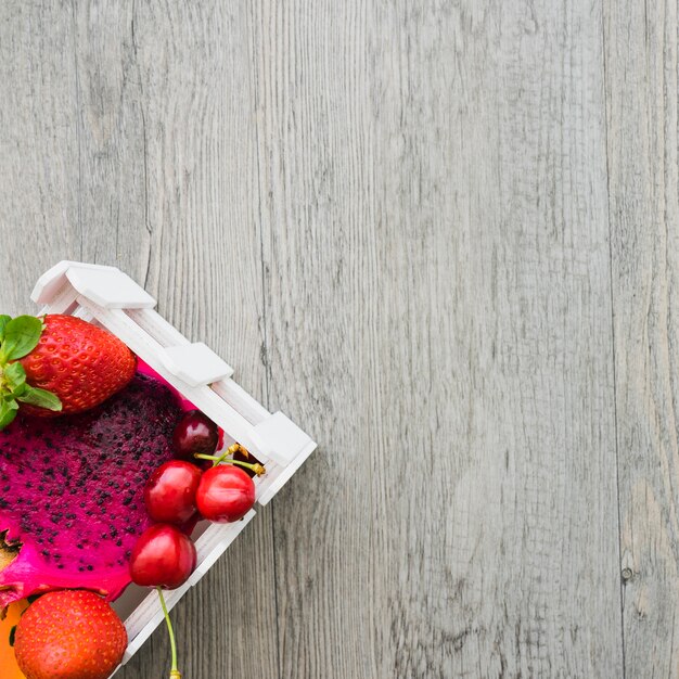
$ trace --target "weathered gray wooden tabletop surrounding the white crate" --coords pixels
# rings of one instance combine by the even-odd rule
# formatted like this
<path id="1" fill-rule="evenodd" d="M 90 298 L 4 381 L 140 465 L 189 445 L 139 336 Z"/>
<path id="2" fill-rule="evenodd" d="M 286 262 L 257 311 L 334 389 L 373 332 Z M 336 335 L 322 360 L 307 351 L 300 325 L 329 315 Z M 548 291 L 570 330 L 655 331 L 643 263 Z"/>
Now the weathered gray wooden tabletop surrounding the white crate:
<path id="1" fill-rule="evenodd" d="M 2 310 L 115 264 L 320 443 L 176 610 L 185 679 L 679 678 L 676 27 L 0 5 Z"/>

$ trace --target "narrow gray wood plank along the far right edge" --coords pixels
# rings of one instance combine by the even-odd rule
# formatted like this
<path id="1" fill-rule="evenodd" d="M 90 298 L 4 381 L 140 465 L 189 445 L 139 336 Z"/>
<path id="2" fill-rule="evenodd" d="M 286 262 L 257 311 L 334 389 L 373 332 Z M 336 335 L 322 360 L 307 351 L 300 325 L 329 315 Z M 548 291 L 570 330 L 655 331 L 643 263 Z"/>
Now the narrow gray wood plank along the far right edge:
<path id="1" fill-rule="evenodd" d="M 605 2 L 628 677 L 679 677 L 677 3 Z"/>

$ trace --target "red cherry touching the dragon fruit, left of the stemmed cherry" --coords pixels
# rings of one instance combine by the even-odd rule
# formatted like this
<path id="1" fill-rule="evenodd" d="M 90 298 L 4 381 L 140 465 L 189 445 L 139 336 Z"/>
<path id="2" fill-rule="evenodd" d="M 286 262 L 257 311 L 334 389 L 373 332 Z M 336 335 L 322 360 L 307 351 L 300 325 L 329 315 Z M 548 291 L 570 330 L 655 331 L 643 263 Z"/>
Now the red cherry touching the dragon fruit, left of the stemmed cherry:
<path id="1" fill-rule="evenodd" d="M 195 492 L 201 470 L 191 462 L 170 460 L 161 465 L 146 482 L 144 502 L 153 521 L 183 524 L 197 511 Z"/>

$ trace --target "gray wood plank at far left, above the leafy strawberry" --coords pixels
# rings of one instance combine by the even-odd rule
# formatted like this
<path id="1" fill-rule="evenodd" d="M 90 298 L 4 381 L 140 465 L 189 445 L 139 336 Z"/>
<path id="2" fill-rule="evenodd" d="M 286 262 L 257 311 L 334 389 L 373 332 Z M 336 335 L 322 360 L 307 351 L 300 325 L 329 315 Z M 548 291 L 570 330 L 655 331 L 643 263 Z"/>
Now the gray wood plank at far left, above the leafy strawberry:
<path id="1" fill-rule="evenodd" d="M 42 271 L 80 254 L 68 11 L 0 4 L 0 300 L 4 312 L 20 313 L 34 309 L 29 295 Z"/>

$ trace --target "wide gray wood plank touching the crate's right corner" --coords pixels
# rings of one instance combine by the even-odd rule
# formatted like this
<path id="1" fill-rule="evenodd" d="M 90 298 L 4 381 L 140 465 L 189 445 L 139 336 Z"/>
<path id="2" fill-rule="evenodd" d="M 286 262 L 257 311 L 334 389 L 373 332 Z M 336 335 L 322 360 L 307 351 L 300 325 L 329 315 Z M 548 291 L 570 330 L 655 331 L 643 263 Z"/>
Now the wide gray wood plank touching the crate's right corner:
<path id="1" fill-rule="evenodd" d="M 622 676 L 600 3 L 256 7 L 282 677 Z"/>

